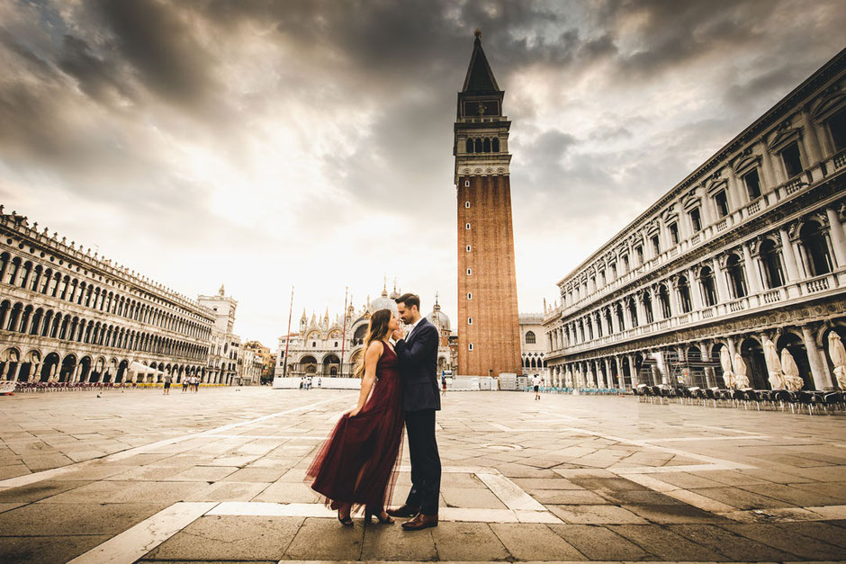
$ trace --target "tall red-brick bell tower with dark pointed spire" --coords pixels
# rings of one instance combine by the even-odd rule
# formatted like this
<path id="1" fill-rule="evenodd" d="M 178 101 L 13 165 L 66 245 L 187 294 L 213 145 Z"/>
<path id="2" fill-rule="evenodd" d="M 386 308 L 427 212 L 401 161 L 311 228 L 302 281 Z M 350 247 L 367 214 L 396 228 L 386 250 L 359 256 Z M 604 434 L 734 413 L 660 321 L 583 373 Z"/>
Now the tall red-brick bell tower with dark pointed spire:
<path id="1" fill-rule="evenodd" d="M 522 372 L 511 227 L 509 129 L 500 90 L 476 30 L 458 93 L 458 374 Z"/>

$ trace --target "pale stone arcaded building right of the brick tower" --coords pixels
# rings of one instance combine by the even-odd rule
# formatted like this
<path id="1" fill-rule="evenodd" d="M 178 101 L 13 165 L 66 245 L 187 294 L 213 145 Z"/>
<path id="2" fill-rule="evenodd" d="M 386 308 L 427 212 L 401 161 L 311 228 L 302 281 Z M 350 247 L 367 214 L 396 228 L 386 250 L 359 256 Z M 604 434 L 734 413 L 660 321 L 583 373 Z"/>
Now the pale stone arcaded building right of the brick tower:
<path id="1" fill-rule="evenodd" d="M 844 66 L 846 51 L 558 282 L 555 382 L 722 386 L 725 348 L 770 389 L 774 345 L 805 389 L 846 387 L 828 352 L 846 338 Z"/>

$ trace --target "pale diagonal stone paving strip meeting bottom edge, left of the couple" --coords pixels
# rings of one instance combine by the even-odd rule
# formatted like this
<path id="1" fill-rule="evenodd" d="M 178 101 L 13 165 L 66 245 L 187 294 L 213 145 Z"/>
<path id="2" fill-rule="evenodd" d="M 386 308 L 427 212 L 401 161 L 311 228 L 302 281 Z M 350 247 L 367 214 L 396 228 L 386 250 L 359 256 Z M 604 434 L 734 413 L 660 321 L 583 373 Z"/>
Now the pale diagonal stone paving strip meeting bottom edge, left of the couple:
<path id="1" fill-rule="evenodd" d="M 131 564 L 207 514 L 219 502 L 178 502 L 113 536 L 68 564 Z"/>

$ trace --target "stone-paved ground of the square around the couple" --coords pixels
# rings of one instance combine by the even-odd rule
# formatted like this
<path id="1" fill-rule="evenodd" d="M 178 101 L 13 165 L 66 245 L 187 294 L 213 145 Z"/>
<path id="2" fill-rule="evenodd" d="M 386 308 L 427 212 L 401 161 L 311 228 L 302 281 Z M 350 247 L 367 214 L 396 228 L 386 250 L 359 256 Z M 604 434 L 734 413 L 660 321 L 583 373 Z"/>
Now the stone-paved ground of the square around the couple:
<path id="1" fill-rule="evenodd" d="M 303 482 L 356 392 L 0 398 L 0 561 L 846 560 L 846 416 L 532 398 L 446 397 L 419 533 Z"/>

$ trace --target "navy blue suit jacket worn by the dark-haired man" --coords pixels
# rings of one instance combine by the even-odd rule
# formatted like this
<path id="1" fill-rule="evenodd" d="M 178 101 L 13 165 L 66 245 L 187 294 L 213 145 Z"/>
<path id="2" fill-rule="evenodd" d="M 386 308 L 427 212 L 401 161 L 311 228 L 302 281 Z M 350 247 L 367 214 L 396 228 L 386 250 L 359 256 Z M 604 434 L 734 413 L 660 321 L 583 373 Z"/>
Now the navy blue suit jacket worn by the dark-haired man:
<path id="1" fill-rule="evenodd" d="M 408 341 L 400 339 L 394 345 L 400 359 L 403 411 L 441 408 L 437 389 L 437 342 L 437 328 L 422 318 Z"/>

